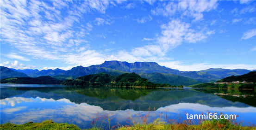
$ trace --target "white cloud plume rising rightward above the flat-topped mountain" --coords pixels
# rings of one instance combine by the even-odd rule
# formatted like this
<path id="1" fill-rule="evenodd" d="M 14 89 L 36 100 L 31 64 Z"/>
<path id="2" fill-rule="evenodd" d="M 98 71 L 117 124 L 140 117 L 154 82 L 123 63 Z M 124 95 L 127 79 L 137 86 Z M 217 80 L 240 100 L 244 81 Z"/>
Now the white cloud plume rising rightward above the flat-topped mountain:
<path id="1" fill-rule="evenodd" d="M 169 60 L 164 57 L 171 49 L 186 43 L 197 43 L 208 38 L 209 35 L 215 33 L 215 30 L 193 30 L 190 28 L 190 24 L 181 22 L 180 20 L 172 20 L 168 24 L 162 24 L 162 35 L 156 37 L 156 39 L 144 38 L 142 41 L 156 40 L 154 44 L 144 45 L 143 47 L 134 47 L 130 52 L 121 50 L 118 53 L 112 55 L 103 55 L 94 51 L 96 59 L 99 61 L 105 60 L 120 60 L 127 62 L 135 61 L 155 61 L 162 62 L 163 60 Z M 93 58 L 93 56 L 89 56 Z M 74 59 L 74 61 L 84 61 L 82 59 Z M 69 61 L 70 62 L 70 61 Z M 85 63 L 85 62 L 82 62 Z M 87 62 L 86 62 L 87 63 Z M 101 64 L 102 62 L 98 62 Z M 81 64 L 83 65 L 83 64 Z M 93 65 L 93 64 L 91 64 Z"/>

